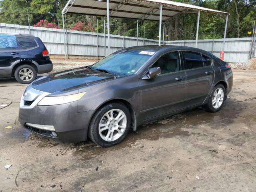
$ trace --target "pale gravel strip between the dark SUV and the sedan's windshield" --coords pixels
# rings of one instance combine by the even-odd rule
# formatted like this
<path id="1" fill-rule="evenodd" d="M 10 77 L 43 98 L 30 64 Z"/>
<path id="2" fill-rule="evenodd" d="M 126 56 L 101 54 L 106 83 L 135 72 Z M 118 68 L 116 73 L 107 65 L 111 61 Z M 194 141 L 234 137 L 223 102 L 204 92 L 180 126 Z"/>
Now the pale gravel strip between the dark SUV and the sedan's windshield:
<path id="1" fill-rule="evenodd" d="M 72 68 L 78 68 L 83 66 L 88 66 L 94 64 L 98 60 L 60 60 L 60 59 L 52 59 L 53 70 L 51 73 L 64 71 Z"/>

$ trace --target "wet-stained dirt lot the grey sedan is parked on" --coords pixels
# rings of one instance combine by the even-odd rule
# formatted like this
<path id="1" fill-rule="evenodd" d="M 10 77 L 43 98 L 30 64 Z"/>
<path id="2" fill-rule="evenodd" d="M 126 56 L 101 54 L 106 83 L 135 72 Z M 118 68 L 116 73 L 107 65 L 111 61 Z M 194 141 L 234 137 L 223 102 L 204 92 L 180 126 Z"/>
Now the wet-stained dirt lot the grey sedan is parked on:
<path id="1" fill-rule="evenodd" d="M 101 148 L 26 131 L 17 121 L 26 86 L 2 79 L 0 97 L 7 99 L 0 106 L 12 103 L 0 109 L 0 192 L 254 192 L 255 83 L 256 70 L 234 70 L 233 90 L 219 112 L 198 108 L 144 124 L 121 144 Z"/>

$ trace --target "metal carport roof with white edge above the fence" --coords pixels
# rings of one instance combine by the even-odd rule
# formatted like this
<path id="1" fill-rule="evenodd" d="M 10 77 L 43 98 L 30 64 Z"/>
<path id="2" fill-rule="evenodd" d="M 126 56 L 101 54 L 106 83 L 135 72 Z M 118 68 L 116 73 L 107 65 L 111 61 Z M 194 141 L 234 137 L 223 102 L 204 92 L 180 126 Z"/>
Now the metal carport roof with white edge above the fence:
<path id="1" fill-rule="evenodd" d="M 172 18 L 182 12 L 187 12 L 188 10 L 229 15 L 227 12 L 169 0 L 109 0 L 110 17 L 159 21 L 159 5 L 163 5 L 163 21 L 168 20 L 169 18 Z M 106 16 L 107 1 L 69 0 L 62 10 L 62 14 L 65 13 Z"/>

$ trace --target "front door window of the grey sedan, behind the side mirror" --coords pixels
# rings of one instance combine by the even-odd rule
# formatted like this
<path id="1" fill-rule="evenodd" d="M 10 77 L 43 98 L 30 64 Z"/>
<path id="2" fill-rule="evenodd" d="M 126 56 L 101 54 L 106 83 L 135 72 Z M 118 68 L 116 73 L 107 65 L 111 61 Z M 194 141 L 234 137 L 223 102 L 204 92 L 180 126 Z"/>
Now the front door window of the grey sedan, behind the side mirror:
<path id="1" fill-rule="evenodd" d="M 178 52 L 170 52 L 161 56 L 152 67 L 160 67 L 161 74 L 180 71 L 180 58 Z"/>

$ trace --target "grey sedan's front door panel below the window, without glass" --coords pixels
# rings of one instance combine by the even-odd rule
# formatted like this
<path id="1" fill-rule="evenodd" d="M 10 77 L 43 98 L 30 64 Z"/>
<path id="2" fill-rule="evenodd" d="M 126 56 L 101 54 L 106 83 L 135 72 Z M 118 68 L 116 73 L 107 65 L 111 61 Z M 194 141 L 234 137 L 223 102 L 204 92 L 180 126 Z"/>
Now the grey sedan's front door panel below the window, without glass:
<path id="1" fill-rule="evenodd" d="M 181 78 L 180 80 L 176 78 Z M 164 74 L 138 81 L 140 88 L 141 119 L 145 120 L 185 107 L 186 73 Z"/>

